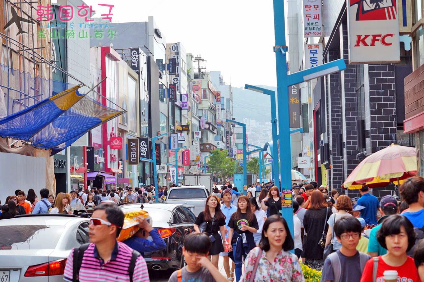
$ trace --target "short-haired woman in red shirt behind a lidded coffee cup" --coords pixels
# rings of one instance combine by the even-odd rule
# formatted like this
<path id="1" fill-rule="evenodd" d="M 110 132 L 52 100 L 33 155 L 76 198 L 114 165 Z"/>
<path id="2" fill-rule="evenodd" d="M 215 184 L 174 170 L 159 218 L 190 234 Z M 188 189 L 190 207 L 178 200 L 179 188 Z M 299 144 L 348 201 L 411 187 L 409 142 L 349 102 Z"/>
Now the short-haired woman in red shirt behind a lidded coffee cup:
<path id="1" fill-rule="evenodd" d="M 378 257 L 376 282 L 384 281 L 384 271 L 396 270 L 397 281 L 421 282 L 415 268 L 414 259 L 408 252 L 414 245 L 416 234 L 412 223 L 404 216 L 389 216 L 377 232 L 377 241 L 387 249 L 387 254 Z M 365 265 L 361 282 L 373 281 L 374 258 Z"/>

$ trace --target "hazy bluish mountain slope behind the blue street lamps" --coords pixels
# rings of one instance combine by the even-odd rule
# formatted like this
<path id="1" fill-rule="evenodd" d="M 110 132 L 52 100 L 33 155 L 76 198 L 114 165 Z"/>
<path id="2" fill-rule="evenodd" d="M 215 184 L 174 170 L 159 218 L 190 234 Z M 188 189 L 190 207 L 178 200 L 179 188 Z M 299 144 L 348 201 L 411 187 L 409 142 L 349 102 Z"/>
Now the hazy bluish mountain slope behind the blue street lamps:
<path id="1" fill-rule="evenodd" d="M 257 85 L 258 87 L 277 91 L 276 87 Z M 236 120 L 250 118 L 256 121 L 271 120 L 271 99 L 268 95 L 233 87 L 233 116 Z"/>

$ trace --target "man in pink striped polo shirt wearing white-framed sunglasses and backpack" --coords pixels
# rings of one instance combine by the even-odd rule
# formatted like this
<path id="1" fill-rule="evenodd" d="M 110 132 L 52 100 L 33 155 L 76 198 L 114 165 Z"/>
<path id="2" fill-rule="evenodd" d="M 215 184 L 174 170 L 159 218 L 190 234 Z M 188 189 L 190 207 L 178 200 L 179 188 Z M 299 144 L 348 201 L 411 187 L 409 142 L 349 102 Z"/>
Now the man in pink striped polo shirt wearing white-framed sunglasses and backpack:
<path id="1" fill-rule="evenodd" d="M 80 260 L 81 267 L 75 269 L 74 259 L 77 258 L 72 250 L 66 262 L 64 279 L 70 282 L 149 282 L 144 258 L 139 256 L 134 269 L 130 269 L 133 249 L 116 240 L 123 223 L 124 213 L 116 205 L 103 203 L 95 207 L 89 225 L 90 244 Z M 78 275 L 78 280 L 73 279 L 74 274 Z"/>

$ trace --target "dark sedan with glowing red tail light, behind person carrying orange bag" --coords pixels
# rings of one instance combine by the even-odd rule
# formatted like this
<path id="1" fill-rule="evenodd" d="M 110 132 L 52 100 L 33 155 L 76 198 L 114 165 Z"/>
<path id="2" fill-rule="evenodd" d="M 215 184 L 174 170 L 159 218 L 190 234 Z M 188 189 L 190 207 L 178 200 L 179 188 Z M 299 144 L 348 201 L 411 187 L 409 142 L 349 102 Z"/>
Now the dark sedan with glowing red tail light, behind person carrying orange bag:
<path id="1" fill-rule="evenodd" d="M 158 229 L 166 243 L 165 250 L 144 254 L 147 267 L 154 270 L 182 268 L 185 265 L 184 238 L 194 231 L 194 214 L 183 205 L 154 203 L 143 206 L 153 220 L 153 228 Z M 123 205 L 120 209 L 123 212 L 139 210 L 140 204 Z M 150 236 L 149 240 L 152 240 Z"/>

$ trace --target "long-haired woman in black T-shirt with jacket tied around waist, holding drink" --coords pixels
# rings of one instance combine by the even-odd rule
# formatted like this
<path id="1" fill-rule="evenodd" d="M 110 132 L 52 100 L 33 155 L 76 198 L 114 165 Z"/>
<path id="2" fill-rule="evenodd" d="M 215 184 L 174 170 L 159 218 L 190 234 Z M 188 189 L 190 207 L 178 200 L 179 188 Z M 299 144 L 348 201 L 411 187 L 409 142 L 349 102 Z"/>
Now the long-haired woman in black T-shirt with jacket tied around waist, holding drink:
<path id="1" fill-rule="evenodd" d="M 259 229 L 256 216 L 252 213 L 250 201 L 246 196 L 240 196 L 237 202 L 237 211 L 231 215 L 228 222 L 228 251 L 232 252 L 229 257 L 236 265 L 236 282 L 241 277 L 241 267 L 247 254 L 255 247 L 253 234 Z"/>

